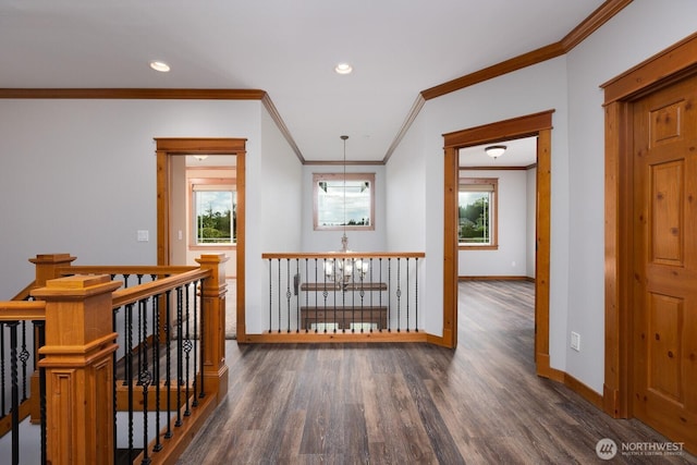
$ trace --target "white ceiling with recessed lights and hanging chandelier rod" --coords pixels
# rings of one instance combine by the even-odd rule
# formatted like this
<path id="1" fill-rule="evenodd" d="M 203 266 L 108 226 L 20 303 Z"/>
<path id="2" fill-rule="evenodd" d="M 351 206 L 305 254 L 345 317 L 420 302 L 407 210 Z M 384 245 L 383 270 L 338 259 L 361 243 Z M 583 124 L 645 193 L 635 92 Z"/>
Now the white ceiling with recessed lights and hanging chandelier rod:
<path id="1" fill-rule="evenodd" d="M 341 159 L 342 134 L 348 160 L 382 160 L 421 90 L 557 42 L 602 3 L 0 0 L 0 87 L 262 89 L 306 160 Z"/>

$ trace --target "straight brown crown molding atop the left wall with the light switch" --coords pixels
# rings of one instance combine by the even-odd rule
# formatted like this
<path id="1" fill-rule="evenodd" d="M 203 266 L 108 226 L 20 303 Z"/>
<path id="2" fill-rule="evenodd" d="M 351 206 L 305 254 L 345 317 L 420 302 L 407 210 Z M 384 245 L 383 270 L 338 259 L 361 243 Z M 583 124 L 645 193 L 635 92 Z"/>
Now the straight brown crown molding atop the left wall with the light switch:
<path id="1" fill-rule="evenodd" d="M 0 98 L 261 100 L 259 89 L 0 88 Z"/>

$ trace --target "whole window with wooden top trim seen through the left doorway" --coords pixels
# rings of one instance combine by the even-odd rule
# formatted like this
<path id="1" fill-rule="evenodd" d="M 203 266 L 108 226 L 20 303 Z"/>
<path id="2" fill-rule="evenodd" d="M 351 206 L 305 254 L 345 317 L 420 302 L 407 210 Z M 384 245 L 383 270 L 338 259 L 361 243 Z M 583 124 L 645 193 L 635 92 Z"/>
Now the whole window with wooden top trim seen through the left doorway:
<path id="1" fill-rule="evenodd" d="M 192 225 L 195 246 L 236 243 L 236 193 L 232 180 L 192 180 Z"/>

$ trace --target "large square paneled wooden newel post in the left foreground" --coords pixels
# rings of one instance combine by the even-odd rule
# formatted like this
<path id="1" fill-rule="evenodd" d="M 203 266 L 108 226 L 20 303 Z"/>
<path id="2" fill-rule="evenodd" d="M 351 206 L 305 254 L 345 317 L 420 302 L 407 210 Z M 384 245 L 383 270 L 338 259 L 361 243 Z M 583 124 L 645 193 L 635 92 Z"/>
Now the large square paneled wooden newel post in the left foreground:
<path id="1" fill-rule="evenodd" d="M 117 333 L 107 274 L 49 280 L 32 295 L 46 301 L 47 462 L 113 464 L 113 364 Z"/>

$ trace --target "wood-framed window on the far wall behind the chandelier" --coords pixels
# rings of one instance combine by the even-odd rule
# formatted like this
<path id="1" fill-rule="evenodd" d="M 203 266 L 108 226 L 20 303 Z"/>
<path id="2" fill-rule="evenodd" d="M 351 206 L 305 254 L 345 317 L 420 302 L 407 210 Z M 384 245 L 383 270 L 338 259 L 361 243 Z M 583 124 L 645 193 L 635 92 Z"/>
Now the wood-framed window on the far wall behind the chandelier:
<path id="1" fill-rule="evenodd" d="M 313 185 L 315 230 L 375 230 L 375 173 L 315 173 Z"/>

